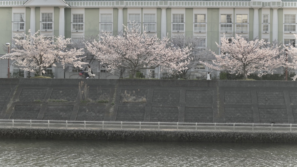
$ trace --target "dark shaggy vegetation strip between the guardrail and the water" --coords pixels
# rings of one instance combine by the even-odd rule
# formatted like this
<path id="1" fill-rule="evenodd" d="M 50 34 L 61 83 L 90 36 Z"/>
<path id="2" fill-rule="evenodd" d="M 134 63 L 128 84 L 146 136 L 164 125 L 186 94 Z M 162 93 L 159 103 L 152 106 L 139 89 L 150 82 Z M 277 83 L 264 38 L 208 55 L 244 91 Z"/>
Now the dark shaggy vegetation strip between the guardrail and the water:
<path id="1" fill-rule="evenodd" d="M 1 138 L 297 143 L 297 132 L 0 128 Z"/>

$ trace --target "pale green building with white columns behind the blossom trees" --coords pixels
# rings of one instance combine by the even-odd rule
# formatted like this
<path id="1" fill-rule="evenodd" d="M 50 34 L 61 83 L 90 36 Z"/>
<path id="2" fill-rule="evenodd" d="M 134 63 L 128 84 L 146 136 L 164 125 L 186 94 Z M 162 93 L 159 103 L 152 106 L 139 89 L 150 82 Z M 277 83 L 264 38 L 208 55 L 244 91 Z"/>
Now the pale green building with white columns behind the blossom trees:
<path id="1" fill-rule="evenodd" d="M 295 45 L 296 14 L 296 0 L 0 0 L 0 44 L 5 47 L 15 34 L 28 33 L 29 29 L 73 40 L 97 35 L 102 30 L 117 35 L 123 24 L 129 26 L 129 21 L 135 21 L 159 38 L 167 33 L 203 37 L 200 47 L 214 50 L 215 42 L 224 33 L 227 37 L 240 34 L 249 39 L 259 37 Z M 5 53 L 1 47 L 0 55 Z M 92 65 L 94 72 L 101 72 L 100 78 L 117 78 L 104 77 L 106 70 L 99 68 L 98 63 Z M 7 78 L 8 66 L 11 73 L 19 71 L 13 61 L 8 64 L 7 59 L 2 59 L 0 78 Z M 199 76 L 209 70 L 198 64 L 191 74 Z M 158 73 L 158 68 L 153 71 Z M 78 77 L 77 71 L 71 69 L 69 72 L 55 67 L 48 72 L 54 72 L 56 78 Z M 147 73 L 148 70 L 144 71 Z"/>

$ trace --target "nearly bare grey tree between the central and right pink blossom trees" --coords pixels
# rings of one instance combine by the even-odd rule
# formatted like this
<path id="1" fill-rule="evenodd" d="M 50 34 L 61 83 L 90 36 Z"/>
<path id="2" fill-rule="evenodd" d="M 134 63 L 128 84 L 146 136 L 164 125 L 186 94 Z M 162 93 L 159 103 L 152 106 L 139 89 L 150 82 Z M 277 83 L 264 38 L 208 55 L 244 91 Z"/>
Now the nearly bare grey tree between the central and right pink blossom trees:
<path id="1" fill-rule="evenodd" d="M 187 64 L 183 70 L 179 71 L 181 78 L 183 79 L 187 79 L 188 70 L 195 68 L 200 62 L 214 59 L 214 55 L 210 51 L 210 48 L 201 47 L 201 43 L 205 42 L 205 38 L 177 34 L 174 37 L 171 37 L 171 42 L 175 47 L 180 48 L 181 50 L 189 48 L 189 56 L 186 59 L 179 60 L 180 62 L 183 62 L 191 59 L 189 64 Z"/>

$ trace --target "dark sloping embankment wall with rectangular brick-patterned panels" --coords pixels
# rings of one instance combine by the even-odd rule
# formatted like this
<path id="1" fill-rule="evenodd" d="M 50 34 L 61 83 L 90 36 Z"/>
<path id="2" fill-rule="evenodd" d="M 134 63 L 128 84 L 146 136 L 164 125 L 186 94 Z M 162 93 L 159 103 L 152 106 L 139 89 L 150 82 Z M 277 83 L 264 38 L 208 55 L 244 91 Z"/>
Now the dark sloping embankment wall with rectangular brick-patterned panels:
<path id="1" fill-rule="evenodd" d="M 93 102 L 80 99 L 80 81 Z M 296 124 L 296 87 L 295 81 L 1 78 L 0 119 Z M 124 103 L 129 94 L 138 101 Z"/>

